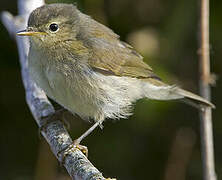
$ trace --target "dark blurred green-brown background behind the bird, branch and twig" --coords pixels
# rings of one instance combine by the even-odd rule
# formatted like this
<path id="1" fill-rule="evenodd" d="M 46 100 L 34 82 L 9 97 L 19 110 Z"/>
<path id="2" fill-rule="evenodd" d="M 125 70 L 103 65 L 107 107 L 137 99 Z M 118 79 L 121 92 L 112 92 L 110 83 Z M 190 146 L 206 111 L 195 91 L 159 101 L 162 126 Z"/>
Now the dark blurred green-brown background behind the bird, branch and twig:
<path id="1" fill-rule="evenodd" d="M 50 3 L 56 1 L 48 1 Z M 196 0 L 79 0 L 85 13 L 133 45 L 163 80 L 198 93 L 199 3 Z M 222 1 L 211 0 L 211 69 L 215 161 L 222 179 Z M 1 1 L 0 11 L 17 14 L 17 1 Z M 15 42 L 0 24 L 0 179 L 65 180 L 25 102 Z M 70 117 L 72 137 L 90 124 Z M 82 143 L 106 177 L 201 180 L 198 111 L 178 102 L 140 100 L 128 120 L 106 121 Z"/>

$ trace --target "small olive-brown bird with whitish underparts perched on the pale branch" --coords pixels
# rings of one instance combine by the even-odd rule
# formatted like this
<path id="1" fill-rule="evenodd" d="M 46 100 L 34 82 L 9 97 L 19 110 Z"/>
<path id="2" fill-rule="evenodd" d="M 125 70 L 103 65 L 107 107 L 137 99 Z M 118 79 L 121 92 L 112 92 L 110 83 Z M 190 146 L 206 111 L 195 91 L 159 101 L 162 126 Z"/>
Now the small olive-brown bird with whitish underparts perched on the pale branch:
<path id="1" fill-rule="evenodd" d="M 208 100 L 168 85 L 143 57 L 110 28 L 73 4 L 54 3 L 35 9 L 28 26 L 29 73 L 48 97 L 94 124 L 80 142 L 105 119 L 128 118 L 139 99 L 182 100 L 197 108 L 215 106 Z"/>

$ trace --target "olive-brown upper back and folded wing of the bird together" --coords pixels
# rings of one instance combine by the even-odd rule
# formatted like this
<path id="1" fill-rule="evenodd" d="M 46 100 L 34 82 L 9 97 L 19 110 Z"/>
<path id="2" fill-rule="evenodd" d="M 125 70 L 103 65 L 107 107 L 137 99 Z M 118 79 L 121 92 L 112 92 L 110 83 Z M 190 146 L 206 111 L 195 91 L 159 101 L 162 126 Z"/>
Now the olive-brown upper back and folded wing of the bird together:
<path id="1" fill-rule="evenodd" d="M 107 75 L 159 79 L 129 44 L 106 26 L 94 21 L 84 25 L 77 39 L 90 51 L 88 64 Z"/>

